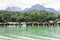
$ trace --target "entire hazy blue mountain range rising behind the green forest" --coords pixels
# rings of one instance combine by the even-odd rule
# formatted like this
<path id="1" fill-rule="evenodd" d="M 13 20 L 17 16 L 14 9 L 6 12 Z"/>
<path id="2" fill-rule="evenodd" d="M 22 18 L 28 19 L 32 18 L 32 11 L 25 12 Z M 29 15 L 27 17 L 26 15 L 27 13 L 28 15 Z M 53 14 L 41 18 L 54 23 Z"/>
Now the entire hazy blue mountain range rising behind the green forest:
<path id="1" fill-rule="evenodd" d="M 44 6 L 42 6 L 40 4 L 33 5 L 31 8 L 26 8 L 24 10 L 22 10 L 21 8 L 18 8 L 18 7 L 8 7 L 8 8 L 6 8 L 6 10 L 7 11 L 32 11 L 32 10 L 40 11 L 40 10 L 45 10 L 45 11 L 49 11 L 52 13 L 59 13 L 58 11 L 56 11 L 53 8 L 45 8 Z"/>

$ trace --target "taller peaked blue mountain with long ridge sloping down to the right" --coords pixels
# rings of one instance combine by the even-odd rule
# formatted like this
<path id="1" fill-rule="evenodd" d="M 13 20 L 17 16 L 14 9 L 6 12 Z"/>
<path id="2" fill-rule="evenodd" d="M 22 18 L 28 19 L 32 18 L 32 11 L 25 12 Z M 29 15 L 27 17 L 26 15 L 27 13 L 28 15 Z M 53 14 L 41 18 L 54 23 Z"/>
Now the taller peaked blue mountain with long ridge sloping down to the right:
<path id="1" fill-rule="evenodd" d="M 52 12 L 52 13 L 58 13 L 58 11 L 56 11 L 55 9 L 53 8 L 46 8 L 40 4 L 36 4 L 36 5 L 33 5 L 31 8 L 26 8 L 24 9 L 24 11 L 32 11 L 32 10 L 37 10 L 37 11 L 40 11 L 40 10 L 45 10 L 45 11 L 49 11 L 49 12 Z"/>

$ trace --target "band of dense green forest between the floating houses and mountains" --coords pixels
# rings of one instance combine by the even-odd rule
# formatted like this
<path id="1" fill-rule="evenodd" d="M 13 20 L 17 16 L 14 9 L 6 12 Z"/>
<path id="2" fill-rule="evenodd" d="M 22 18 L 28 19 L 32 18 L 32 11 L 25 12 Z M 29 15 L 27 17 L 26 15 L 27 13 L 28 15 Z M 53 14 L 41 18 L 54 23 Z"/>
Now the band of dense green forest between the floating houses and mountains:
<path id="1" fill-rule="evenodd" d="M 55 15 L 47 11 L 0 11 L 0 22 L 48 22 L 50 20 L 60 20 L 60 14 Z"/>

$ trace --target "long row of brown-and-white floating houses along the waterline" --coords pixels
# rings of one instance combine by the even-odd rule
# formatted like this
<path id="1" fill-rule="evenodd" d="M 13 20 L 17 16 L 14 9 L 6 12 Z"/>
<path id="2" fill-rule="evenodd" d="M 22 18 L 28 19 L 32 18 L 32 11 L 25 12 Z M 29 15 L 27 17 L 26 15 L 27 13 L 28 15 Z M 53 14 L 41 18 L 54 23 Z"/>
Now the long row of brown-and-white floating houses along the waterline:
<path id="1" fill-rule="evenodd" d="M 0 25 L 26 25 L 26 26 L 60 26 L 60 21 L 58 22 L 0 22 Z"/>

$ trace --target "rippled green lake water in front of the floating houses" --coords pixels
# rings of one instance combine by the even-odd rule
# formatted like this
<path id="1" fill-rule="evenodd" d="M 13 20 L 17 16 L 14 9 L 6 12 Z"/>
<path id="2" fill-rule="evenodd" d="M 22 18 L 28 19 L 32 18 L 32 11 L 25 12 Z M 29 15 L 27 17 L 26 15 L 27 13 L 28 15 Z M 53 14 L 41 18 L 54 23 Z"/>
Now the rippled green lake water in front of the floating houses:
<path id="1" fill-rule="evenodd" d="M 60 27 L 0 26 L 0 40 L 60 40 Z"/>

